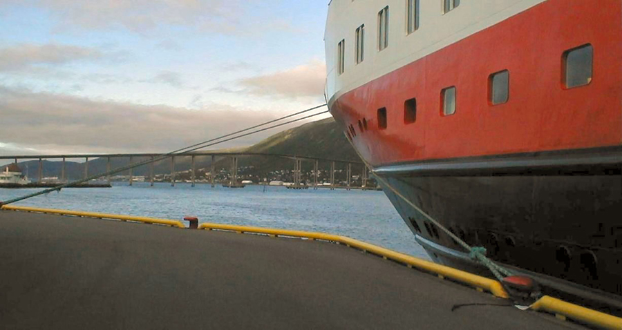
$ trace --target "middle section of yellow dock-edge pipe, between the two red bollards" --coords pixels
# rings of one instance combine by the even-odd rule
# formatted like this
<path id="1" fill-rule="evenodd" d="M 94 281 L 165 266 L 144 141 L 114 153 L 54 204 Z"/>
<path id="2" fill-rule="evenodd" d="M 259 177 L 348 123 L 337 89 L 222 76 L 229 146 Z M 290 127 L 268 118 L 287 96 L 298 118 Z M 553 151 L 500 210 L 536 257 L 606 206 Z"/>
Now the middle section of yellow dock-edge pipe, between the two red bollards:
<path id="1" fill-rule="evenodd" d="M 501 284 L 496 280 L 484 278 L 483 276 L 479 276 L 479 275 L 473 275 L 471 273 L 467 273 L 466 271 L 460 271 L 458 269 L 453 269 L 451 267 L 443 266 L 441 264 L 435 264 L 434 262 L 429 262 L 426 260 L 414 258 L 404 253 L 399 253 L 399 252 L 391 251 L 389 249 L 384 249 L 380 246 L 376 246 L 376 245 L 369 244 L 366 242 L 361 242 L 359 240 L 354 240 L 349 237 L 344 237 L 344 236 L 339 236 L 339 235 L 330 235 L 330 234 L 325 234 L 325 233 L 309 233 L 305 231 L 285 231 L 285 230 L 267 229 L 267 228 L 261 228 L 261 227 L 235 226 L 231 224 L 207 224 L 206 223 L 206 224 L 201 224 L 199 226 L 199 229 L 207 229 L 207 230 L 216 229 L 220 231 L 235 231 L 238 233 L 259 233 L 259 234 L 264 234 L 264 235 L 301 237 L 301 238 L 308 238 L 312 240 L 326 240 L 330 242 L 338 242 L 340 244 L 346 244 L 347 246 L 352 246 L 357 249 L 361 249 L 363 251 L 368 251 L 370 253 L 380 255 L 390 260 L 402 262 L 404 264 L 407 264 L 408 266 L 413 266 L 417 269 L 422 269 L 424 271 L 435 273 L 437 275 L 442 275 L 445 278 L 451 278 L 452 280 L 456 280 L 458 282 L 469 284 L 476 288 L 490 291 L 493 295 L 496 295 L 497 297 L 500 297 L 500 298 L 508 298 L 507 293 L 505 292 Z"/>

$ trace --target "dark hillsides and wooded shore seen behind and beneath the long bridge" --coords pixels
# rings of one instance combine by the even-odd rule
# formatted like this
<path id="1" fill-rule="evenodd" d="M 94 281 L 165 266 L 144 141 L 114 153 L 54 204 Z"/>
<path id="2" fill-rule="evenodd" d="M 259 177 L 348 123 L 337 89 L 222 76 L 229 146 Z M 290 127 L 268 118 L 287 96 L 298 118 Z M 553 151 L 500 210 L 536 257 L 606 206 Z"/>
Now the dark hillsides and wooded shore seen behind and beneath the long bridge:
<path id="1" fill-rule="evenodd" d="M 321 157 L 329 159 L 343 159 L 351 161 L 359 161 L 359 157 L 350 146 L 350 143 L 343 136 L 343 132 L 337 126 L 334 119 L 327 118 L 317 122 L 303 124 L 302 126 L 284 130 L 276 133 L 267 139 L 250 146 L 241 148 L 242 151 L 250 153 L 278 153 L 288 155 L 300 155 L 307 157 Z M 70 162 L 70 161 L 78 162 Z M 139 162 L 143 159 L 133 159 L 133 162 Z M 111 159 L 111 168 L 117 168 L 128 164 L 128 158 Z M 211 166 L 211 157 L 197 157 L 196 167 L 209 168 Z M 238 160 L 238 166 L 252 165 L 256 168 L 257 174 L 267 171 L 274 171 L 280 168 L 292 168 L 293 162 L 288 159 L 277 159 L 274 157 L 242 157 Z M 176 159 L 176 171 L 188 171 L 190 169 L 189 157 Z M 220 159 L 216 163 L 217 168 L 229 169 L 229 159 Z M 37 178 L 39 162 L 37 160 L 19 163 L 21 170 L 31 178 Z M 311 163 L 303 164 L 303 168 L 310 169 Z M 321 168 L 327 169 L 330 164 L 320 164 Z M 60 177 L 61 162 L 44 160 L 44 177 Z M 90 175 L 96 173 L 104 173 L 106 171 L 106 159 L 93 159 L 88 161 L 88 173 Z M 168 174 L 171 171 L 171 162 L 169 159 L 158 162 L 154 166 L 156 174 Z M 68 159 L 66 163 L 67 177 L 70 179 L 78 179 L 84 176 L 84 163 L 79 163 L 79 159 Z M 134 175 L 148 175 L 149 168 L 142 166 L 135 168 Z M 120 173 L 127 175 L 128 173 Z"/>

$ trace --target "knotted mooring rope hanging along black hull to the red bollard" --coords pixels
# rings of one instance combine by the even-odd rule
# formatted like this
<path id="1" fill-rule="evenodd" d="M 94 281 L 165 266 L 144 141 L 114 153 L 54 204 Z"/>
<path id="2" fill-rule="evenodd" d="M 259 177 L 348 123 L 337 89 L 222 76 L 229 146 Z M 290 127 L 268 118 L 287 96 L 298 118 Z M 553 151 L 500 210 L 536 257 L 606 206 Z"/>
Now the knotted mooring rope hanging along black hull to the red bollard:
<path id="1" fill-rule="evenodd" d="M 350 139 L 348 139 L 348 141 L 350 141 Z M 350 141 L 350 144 L 352 144 L 352 141 Z M 352 148 L 354 148 L 353 144 L 352 144 Z M 483 246 L 470 246 L 468 243 L 464 242 L 464 240 L 461 240 L 460 237 L 458 237 L 457 235 L 449 231 L 449 229 L 446 229 L 445 226 L 440 224 L 440 222 L 435 220 L 431 215 L 424 212 L 419 206 L 415 205 L 415 203 L 411 202 L 411 200 L 409 200 L 408 197 L 402 195 L 402 193 L 400 193 L 395 187 L 393 187 L 386 179 L 376 175 L 375 172 L 373 171 L 373 167 L 367 162 L 367 160 L 364 157 L 361 156 L 357 148 L 354 148 L 354 149 L 357 155 L 359 155 L 359 158 L 361 158 L 365 166 L 368 168 L 368 170 L 371 171 L 371 173 L 373 173 L 374 177 L 381 184 L 386 186 L 386 188 L 389 188 L 389 190 L 392 191 L 397 197 L 399 197 L 401 200 L 404 200 L 406 204 L 414 208 L 415 211 L 417 211 L 417 213 L 420 213 L 420 215 L 425 217 L 429 222 L 431 222 L 433 225 L 437 226 L 437 228 L 439 228 L 444 233 L 449 235 L 449 237 L 451 237 L 453 240 L 455 240 L 455 242 L 457 242 L 460 246 L 462 246 L 462 248 L 464 248 L 466 251 L 469 252 L 469 257 L 471 259 L 476 260 L 480 262 L 480 264 L 483 264 L 484 266 L 486 266 L 491 271 L 491 273 L 493 273 L 495 278 L 499 280 L 499 282 L 503 284 L 502 282 L 504 278 L 503 275 L 505 276 L 513 275 L 513 273 L 509 269 L 499 266 L 498 264 L 496 264 L 496 262 L 493 262 L 492 260 L 490 260 L 490 258 L 486 256 L 486 248 L 484 248 Z"/>

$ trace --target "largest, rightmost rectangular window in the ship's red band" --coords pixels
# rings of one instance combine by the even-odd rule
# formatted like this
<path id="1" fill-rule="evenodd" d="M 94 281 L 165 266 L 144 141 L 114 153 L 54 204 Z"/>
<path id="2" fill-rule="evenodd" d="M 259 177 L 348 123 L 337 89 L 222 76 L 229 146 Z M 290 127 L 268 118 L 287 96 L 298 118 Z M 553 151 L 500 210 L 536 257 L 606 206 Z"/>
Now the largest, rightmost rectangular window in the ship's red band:
<path id="1" fill-rule="evenodd" d="M 585 86 L 592 82 L 594 48 L 589 43 L 567 50 L 563 55 L 563 81 L 566 88 Z"/>

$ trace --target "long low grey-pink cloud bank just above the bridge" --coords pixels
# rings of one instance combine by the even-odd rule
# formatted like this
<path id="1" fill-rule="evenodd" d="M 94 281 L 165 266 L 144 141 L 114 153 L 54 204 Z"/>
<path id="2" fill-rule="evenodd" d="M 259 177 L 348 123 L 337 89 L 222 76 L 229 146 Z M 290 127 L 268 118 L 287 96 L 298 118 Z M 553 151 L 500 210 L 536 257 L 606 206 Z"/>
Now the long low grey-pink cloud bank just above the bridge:
<path id="1" fill-rule="evenodd" d="M 157 153 L 218 137 L 274 119 L 270 110 L 220 104 L 189 110 L 32 93 L 0 86 L 0 154 Z M 283 127 L 284 129 L 288 127 Z M 249 146 L 276 133 L 266 131 L 221 147 Z M 214 147 L 216 148 L 216 147 Z M 32 152 L 28 152 L 31 153 Z"/>

